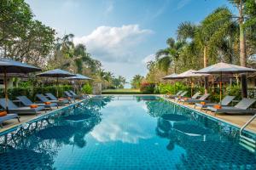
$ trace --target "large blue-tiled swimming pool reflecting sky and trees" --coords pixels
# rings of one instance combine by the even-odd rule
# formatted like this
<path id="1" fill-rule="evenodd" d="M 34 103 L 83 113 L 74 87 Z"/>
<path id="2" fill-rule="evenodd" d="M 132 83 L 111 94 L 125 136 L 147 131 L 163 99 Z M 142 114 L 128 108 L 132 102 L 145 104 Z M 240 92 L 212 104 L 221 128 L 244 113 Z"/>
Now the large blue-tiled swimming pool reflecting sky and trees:
<path id="1" fill-rule="evenodd" d="M 256 168 L 236 127 L 154 96 L 85 100 L 1 135 L 6 170 Z"/>

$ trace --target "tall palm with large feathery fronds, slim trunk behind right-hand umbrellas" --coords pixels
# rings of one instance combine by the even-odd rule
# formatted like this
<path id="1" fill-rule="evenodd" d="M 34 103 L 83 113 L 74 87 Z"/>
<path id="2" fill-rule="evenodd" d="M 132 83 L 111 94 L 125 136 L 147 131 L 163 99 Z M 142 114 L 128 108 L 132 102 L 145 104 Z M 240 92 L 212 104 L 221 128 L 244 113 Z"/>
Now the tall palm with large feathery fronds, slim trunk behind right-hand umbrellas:
<path id="1" fill-rule="evenodd" d="M 228 8 L 217 8 L 209 14 L 200 25 L 183 22 L 177 29 L 177 39 L 201 47 L 203 65 L 207 67 L 209 50 L 214 50 L 230 31 L 232 26 L 231 13 Z M 215 54 L 217 55 L 217 54 Z M 213 57 L 213 56 L 212 56 Z M 216 57 L 216 56 L 215 56 Z M 205 78 L 205 93 L 207 93 L 208 80 Z"/>

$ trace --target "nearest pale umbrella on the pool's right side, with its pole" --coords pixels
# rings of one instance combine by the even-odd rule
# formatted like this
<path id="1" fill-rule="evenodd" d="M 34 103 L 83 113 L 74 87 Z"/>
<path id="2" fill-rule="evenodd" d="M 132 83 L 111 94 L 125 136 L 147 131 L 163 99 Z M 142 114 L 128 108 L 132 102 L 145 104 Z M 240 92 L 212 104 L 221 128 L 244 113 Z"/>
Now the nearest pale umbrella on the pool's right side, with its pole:
<path id="1" fill-rule="evenodd" d="M 207 73 L 207 74 L 219 74 L 220 75 L 220 82 L 219 82 L 219 101 L 222 98 L 222 74 L 235 74 L 235 73 L 247 73 L 247 72 L 254 72 L 255 69 L 247 68 L 240 65 L 231 65 L 227 63 L 220 62 L 215 65 L 210 65 L 206 68 L 203 68 L 199 71 L 194 71 L 195 74 L 199 73 Z"/>

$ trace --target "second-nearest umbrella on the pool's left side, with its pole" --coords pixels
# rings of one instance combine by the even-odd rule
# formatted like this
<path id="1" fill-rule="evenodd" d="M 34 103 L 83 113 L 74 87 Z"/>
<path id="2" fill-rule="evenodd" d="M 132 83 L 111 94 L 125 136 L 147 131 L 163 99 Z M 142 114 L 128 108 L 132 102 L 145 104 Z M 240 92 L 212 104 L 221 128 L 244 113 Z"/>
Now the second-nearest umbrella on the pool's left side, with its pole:
<path id="1" fill-rule="evenodd" d="M 56 85 L 59 85 L 59 78 L 60 77 L 74 77 L 75 75 L 68 72 L 68 71 L 63 71 L 61 69 L 55 69 L 55 70 L 51 70 L 51 71 L 45 71 L 42 73 L 37 74 L 38 77 L 56 77 L 57 78 L 57 82 Z M 59 91 L 57 88 L 57 97 L 59 96 Z"/>

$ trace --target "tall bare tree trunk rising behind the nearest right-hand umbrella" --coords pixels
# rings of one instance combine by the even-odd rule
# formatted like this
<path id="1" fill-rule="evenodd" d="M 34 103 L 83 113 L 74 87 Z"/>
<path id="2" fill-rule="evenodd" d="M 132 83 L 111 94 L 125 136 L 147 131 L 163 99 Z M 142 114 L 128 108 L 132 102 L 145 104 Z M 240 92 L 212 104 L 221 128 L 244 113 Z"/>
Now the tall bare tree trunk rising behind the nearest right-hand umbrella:
<path id="1" fill-rule="evenodd" d="M 245 41 L 245 31 L 243 27 L 243 11 L 242 11 L 242 1 L 239 5 L 239 29 L 240 29 L 240 65 L 247 66 L 247 53 L 246 53 L 246 41 Z M 241 96 L 247 98 L 247 76 L 246 74 L 241 74 Z"/>

